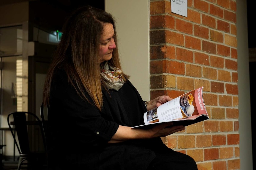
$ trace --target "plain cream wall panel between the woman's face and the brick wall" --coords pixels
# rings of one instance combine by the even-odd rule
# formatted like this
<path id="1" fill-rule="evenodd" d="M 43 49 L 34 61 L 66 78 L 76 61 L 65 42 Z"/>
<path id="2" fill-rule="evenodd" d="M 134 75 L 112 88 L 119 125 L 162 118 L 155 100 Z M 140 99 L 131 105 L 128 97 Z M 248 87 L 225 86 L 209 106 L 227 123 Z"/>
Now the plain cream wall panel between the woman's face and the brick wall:
<path id="1" fill-rule="evenodd" d="M 123 71 L 143 100 L 149 100 L 149 5 L 147 0 L 105 0 L 116 19 Z"/>

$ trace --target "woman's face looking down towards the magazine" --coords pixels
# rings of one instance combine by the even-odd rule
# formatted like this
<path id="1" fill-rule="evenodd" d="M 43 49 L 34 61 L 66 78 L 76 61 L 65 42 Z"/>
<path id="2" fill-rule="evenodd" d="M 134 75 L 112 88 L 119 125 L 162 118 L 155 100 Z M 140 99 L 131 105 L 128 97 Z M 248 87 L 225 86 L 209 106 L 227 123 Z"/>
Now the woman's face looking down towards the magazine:
<path id="1" fill-rule="evenodd" d="M 116 48 L 114 41 L 115 31 L 113 25 L 106 23 L 103 26 L 103 33 L 100 37 L 99 56 L 101 61 L 108 61 L 112 58 L 112 52 Z"/>

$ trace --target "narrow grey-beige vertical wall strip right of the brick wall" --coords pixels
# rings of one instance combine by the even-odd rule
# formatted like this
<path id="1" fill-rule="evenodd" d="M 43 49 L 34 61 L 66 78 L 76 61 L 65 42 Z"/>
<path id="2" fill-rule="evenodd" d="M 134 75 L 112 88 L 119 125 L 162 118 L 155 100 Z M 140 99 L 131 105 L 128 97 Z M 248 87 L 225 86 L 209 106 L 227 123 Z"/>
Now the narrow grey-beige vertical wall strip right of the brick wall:
<path id="1" fill-rule="evenodd" d="M 252 170 L 252 127 L 246 0 L 236 1 L 239 135 L 241 170 Z"/>

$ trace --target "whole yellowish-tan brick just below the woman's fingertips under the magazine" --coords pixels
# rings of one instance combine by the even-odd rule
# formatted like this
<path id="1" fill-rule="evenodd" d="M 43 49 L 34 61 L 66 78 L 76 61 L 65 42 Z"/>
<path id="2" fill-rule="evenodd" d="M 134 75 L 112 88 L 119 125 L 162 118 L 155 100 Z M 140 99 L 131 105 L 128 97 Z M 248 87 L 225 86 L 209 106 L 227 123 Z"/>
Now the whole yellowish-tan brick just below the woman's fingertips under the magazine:
<path id="1" fill-rule="evenodd" d="M 195 148 L 195 136 L 194 135 L 178 136 L 178 148 Z"/>

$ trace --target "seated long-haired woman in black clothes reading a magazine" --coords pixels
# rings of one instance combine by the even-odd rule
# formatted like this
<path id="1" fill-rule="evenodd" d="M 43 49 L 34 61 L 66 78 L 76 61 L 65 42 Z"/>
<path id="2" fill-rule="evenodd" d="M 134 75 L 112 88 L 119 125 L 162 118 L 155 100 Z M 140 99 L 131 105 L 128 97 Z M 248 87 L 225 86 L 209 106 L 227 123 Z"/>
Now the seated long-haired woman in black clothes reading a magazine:
<path id="1" fill-rule="evenodd" d="M 184 130 L 151 129 L 143 113 L 171 98 L 145 103 L 121 70 L 113 17 L 86 6 L 66 20 L 45 80 L 48 163 L 51 169 L 197 169 L 160 137 Z"/>

